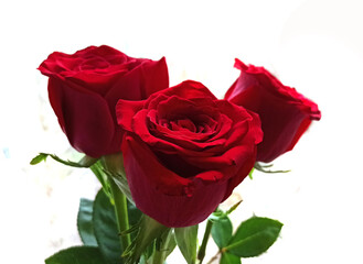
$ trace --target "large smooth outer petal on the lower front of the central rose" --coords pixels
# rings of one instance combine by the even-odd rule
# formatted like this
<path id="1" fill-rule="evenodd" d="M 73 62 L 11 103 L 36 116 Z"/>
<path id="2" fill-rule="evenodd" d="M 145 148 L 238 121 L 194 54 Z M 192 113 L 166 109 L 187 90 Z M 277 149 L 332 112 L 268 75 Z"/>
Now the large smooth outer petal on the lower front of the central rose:
<path id="1" fill-rule="evenodd" d="M 124 141 L 122 151 L 136 206 L 167 227 L 203 221 L 225 196 L 227 182 L 203 185 L 197 178 L 182 178 L 163 167 L 146 145 L 131 136 Z"/>

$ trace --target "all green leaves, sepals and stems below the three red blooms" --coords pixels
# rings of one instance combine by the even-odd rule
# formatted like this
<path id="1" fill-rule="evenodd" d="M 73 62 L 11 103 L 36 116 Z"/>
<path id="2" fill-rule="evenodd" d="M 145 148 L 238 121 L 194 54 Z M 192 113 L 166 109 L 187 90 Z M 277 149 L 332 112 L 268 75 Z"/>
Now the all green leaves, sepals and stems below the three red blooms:
<path id="1" fill-rule="evenodd" d="M 77 228 L 84 245 L 60 251 L 46 258 L 46 264 L 147 264 L 150 261 L 159 264 L 167 258 L 177 244 L 188 264 L 196 263 L 197 224 L 175 228 L 173 231 L 142 215 L 134 204 L 128 201 L 127 212 L 130 229 L 122 232 L 122 234 L 131 234 L 132 243 L 127 249 L 124 249 L 121 246 L 124 240 L 121 243 L 119 237 L 122 234 L 118 233 L 117 228 L 115 200 L 109 182 L 110 176 L 105 172 L 102 162 L 84 156 L 78 163 L 74 163 L 63 161 L 53 154 L 40 153 L 31 161 L 31 164 L 35 165 L 46 161 L 47 156 L 68 166 L 90 166 L 90 169 L 103 185 L 103 189 L 97 194 L 95 201 L 81 199 Z M 266 170 L 266 167 L 269 166 L 255 164 L 256 169 L 265 173 L 282 172 Z M 250 176 L 252 173 L 253 170 Z M 282 228 L 282 223 L 277 220 L 253 217 L 242 222 L 233 234 L 233 226 L 228 215 L 239 204 L 241 201 L 226 212 L 216 210 L 209 219 L 212 224 L 206 235 L 204 235 L 206 238 L 205 245 L 211 232 L 222 254 L 221 264 L 241 264 L 241 257 L 260 255 L 275 243 Z"/>

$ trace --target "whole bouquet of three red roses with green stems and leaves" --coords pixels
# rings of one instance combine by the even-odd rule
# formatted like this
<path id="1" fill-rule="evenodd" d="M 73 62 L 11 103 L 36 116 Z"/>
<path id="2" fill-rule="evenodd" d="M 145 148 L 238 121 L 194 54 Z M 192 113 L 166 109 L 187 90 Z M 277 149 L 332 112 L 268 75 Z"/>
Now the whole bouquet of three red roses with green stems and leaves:
<path id="1" fill-rule="evenodd" d="M 226 211 L 218 205 L 254 168 L 269 173 L 263 163 L 292 150 L 320 111 L 266 69 L 238 59 L 235 67 L 241 76 L 221 100 L 197 81 L 169 87 L 164 58 L 109 46 L 55 52 L 40 65 L 58 123 L 84 157 L 41 153 L 31 164 L 51 156 L 89 167 L 103 186 L 79 204 L 84 245 L 46 264 L 161 264 L 175 246 L 186 263 L 202 263 L 210 237 L 220 263 L 233 264 L 274 244 L 282 223 L 254 216 L 233 231 L 239 202 Z"/>

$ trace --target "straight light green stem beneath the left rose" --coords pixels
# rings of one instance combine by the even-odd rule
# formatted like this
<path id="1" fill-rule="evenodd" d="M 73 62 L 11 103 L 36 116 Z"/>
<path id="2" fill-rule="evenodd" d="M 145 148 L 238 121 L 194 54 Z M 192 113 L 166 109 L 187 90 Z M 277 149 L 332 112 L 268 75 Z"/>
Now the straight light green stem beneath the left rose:
<path id="1" fill-rule="evenodd" d="M 109 177 L 109 184 L 111 187 L 111 193 L 115 201 L 115 213 L 117 220 L 117 228 L 119 233 L 128 230 L 129 227 L 129 219 L 128 219 L 128 211 L 127 211 L 127 198 L 122 194 L 122 191 L 118 188 L 115 184 L 114 179 Z M 121 242 L 121 250 L 126 250 L 129 244 L 131 243 L 130 234 L 122 234 L 120 237 Z"/>

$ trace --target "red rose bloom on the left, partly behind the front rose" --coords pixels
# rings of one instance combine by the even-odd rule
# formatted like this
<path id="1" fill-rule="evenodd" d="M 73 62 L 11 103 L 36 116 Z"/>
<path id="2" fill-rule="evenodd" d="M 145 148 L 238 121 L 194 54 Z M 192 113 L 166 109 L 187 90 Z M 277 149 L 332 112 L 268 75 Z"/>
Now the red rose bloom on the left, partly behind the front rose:
<path id="1" fill-rule="evenodd" d="M 71 145 L 92 157 L 120 151 L 118 99 L 142 100 L 169 86 L 164 58 L 132 58 L 109 46 L 55 52 L 39 69 L 50 77 L 50 101 Z"/>

